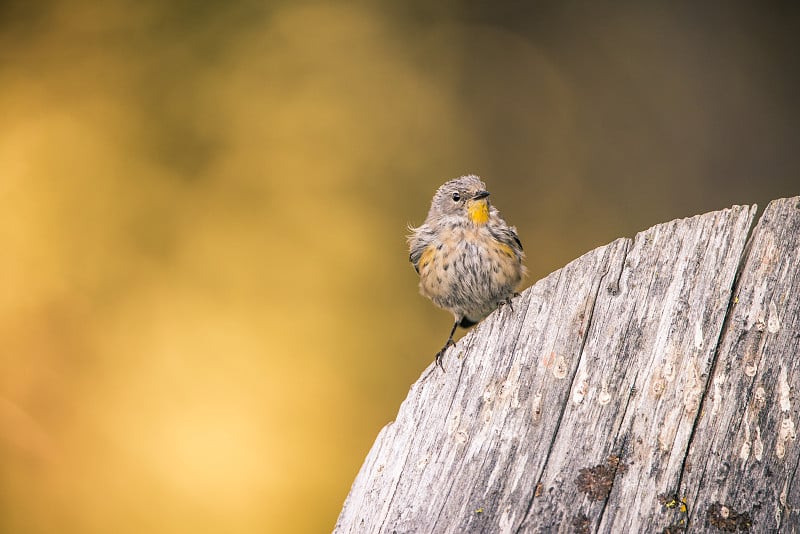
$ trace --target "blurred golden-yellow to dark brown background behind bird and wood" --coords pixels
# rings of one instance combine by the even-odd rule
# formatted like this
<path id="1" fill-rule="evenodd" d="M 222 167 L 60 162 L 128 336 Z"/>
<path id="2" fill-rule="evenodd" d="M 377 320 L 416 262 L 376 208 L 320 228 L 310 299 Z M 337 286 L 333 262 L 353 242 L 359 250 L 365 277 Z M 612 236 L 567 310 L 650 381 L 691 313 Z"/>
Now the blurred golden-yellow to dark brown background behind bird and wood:
<path id="1" fill-rule="evenodd" d="M 450 316 L 483 176 L 525 286 L 800 193 L 800 8 L 0 3 L 0 531 L 325 532 Z"/>

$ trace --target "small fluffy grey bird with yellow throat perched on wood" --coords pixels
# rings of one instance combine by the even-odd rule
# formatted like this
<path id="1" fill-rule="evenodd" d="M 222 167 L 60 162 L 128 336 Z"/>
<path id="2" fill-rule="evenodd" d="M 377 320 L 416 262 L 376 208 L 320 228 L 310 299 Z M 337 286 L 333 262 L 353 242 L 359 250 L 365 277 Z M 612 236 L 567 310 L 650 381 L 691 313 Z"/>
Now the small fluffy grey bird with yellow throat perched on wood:
<path id="1" fill-rule="evenodd" d="M 436 364 L 455 343 L 456 328 L 468 328 L 501 304 L 511 304 L 525 275 L 517 229 L 500 217 L 478 176 L 450 180 L 436 190 L 425 222 L 409 227 L 409 260 L 419 291 L 453 314 L 455 323 Z"/>

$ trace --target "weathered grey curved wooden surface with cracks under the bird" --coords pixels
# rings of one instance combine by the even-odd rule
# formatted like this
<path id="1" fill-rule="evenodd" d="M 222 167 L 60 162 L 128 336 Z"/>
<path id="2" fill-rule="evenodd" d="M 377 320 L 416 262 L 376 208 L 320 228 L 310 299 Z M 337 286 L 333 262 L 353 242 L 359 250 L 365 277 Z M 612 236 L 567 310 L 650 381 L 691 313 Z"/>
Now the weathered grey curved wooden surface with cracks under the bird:
<path id="1" fill-rule="evenodd" d="M 537 282 L 411 387 L 336 532 L 800 532 L 800 197 Z M 737 275 L 738 273 L 738 275 Z"/>

